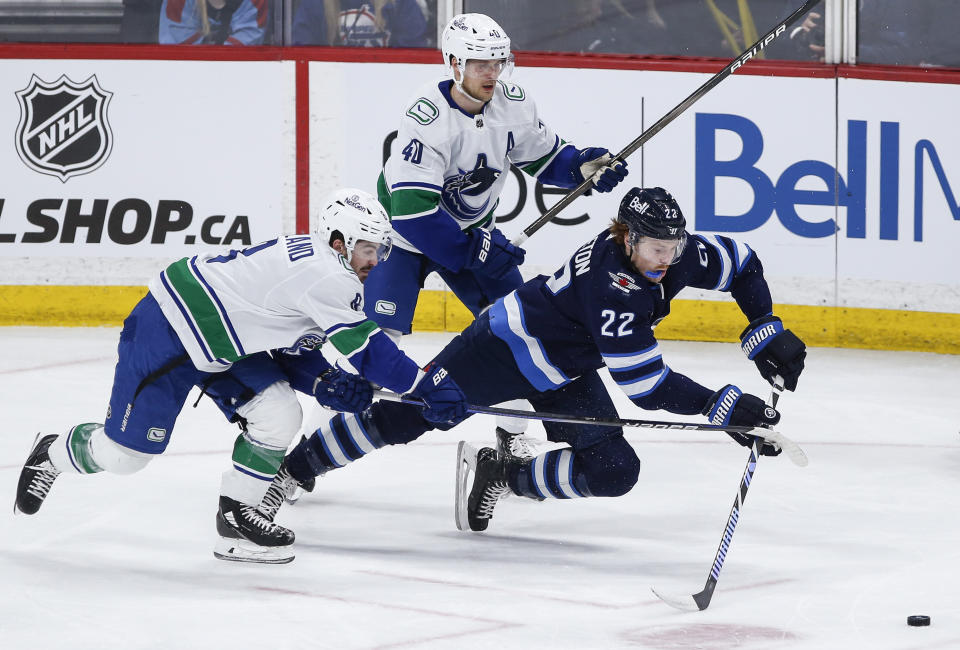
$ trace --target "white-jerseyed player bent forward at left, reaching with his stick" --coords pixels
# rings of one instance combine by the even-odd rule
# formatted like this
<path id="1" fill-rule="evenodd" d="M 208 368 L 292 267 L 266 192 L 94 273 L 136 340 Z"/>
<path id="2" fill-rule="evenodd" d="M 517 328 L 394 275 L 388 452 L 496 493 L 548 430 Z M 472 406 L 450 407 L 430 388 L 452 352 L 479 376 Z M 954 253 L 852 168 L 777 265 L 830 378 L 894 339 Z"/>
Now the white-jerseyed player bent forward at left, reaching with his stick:
<path id="1" fill-rule="evenodd" d="M 105 423 L 39 434 L 15 510 L 36 513 L 61 473 L 143 469 L 166 449 L 188 393 L 199 386 L 242 426 L 223 474 L 214 554 L 292 560 L 293 532 L 256 506 L 300 428 L 294 388 L 357 412 L 372 399 L 369 380 L 419 395 L 431 404 L 425 417 L 440 426 L 466 414 L 462 391 L 442 368 L 420 370 L 363 313 L 362 282 L 389 255 L 390 233 L 375 197 L 340 190 L 324 201 L 318 232 L 168 266 L 124 321 Z M 324 359 L 319 348 L 328 341 L 360 376 Z M 288 373 L 291 355 L 297 371 Z"/>

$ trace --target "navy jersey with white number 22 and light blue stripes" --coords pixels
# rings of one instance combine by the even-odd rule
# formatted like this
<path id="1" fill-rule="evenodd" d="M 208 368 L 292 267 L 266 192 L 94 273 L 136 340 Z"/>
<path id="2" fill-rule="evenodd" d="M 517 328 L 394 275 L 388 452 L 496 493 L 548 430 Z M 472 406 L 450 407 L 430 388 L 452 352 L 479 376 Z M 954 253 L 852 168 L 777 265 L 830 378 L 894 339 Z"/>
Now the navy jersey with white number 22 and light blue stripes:
<path id="1" fill-rule="evenodd" d="M 490 309 L 490 329 L 538 390 L 607 366 L 638 406 L 690 415 L 713 391 L 671 370 L 653 331 L 684 287 L 729 292 L 751 321 L 773 306 L 763 266 L 745 244 L 690 235 L 658 284 L 638 273 L 603 232 L 552 276 L 538 276 L 499 300 Z"/>

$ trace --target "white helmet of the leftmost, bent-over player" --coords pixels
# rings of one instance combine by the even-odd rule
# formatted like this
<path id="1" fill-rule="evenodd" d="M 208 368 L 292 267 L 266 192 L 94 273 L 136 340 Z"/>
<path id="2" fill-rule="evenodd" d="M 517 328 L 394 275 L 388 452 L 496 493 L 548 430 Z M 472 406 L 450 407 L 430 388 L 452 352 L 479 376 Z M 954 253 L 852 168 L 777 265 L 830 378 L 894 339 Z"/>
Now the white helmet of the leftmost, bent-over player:
<path id="1" fill-rule="evenodd" d="M 326 195 L 321 202 L 317 232 L 328 242 L 334 232 L 340 233 L 347 249 L 347 262 L 361 239 L 378 245 L 380 261 L 390 255 L 390 218 L 377 197 L 363 190 L 346 187 Z"/>

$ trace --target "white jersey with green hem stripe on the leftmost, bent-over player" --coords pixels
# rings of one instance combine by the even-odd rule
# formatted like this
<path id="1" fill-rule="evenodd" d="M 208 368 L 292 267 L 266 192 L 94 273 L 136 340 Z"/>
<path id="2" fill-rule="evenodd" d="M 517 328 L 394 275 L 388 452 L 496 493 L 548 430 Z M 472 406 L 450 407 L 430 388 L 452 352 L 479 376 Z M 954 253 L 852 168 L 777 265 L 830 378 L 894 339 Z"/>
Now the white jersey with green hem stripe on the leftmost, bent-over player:
<path id="1" fill-rule="evenodd" d="M 350 356 L 379 331 L 364 316 L 360 279 L 315 234 L 181 259 L 150 282 L 150 292 L 205 372 L 264 350 L 316 349 L 327 339 Z"/>

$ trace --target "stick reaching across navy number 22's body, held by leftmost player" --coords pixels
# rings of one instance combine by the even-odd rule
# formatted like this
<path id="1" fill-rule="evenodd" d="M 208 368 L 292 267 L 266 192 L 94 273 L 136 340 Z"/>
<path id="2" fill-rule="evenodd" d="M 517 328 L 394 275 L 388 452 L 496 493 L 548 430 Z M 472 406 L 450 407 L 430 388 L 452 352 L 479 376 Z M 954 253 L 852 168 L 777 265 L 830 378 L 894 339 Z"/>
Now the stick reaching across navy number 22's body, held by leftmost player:
<path id="1" fill-rule="evenodd" d="M 390 402 L 400 402 L 411 406 L 423 407 L 425 404 L 418 399 L 407 397 L 406 395 L 397 395 L 385 390 L 373 391 L 375 397 Z M 540 420 L 542 422 L 568 422 L 571 424 L 592 424 L 596 426 L 607 427 L 628 427 L 638 429 L 672 429 L 679 431 L 723 431 L 724 433 L 745 433 L 758 438 L 763 438 L 780 447 L 787 455 L 787 458 L 794 465 L 805 467 L 807 465 L 807 455 L 800 448 L 800 445 L 783 435 L 779 431 L 767 429 L 765 427 L 739 427 L 733 425 L 719 424 L 700 424 L 696 422 L 665 422 L 661 420 L 605 420 L 602 418 L 590 417 L 588 415 L 574 416 L 562 415 L 559 413 L 543 413 L 538 411 L 521 411 L 518 409 L 499 408 L 496 406 L 477 406 L 470 404 L 467 408 L 470 413 L 479 415 L 506 415 L 507 417 L 523 418 L 526 420 Z"/>

